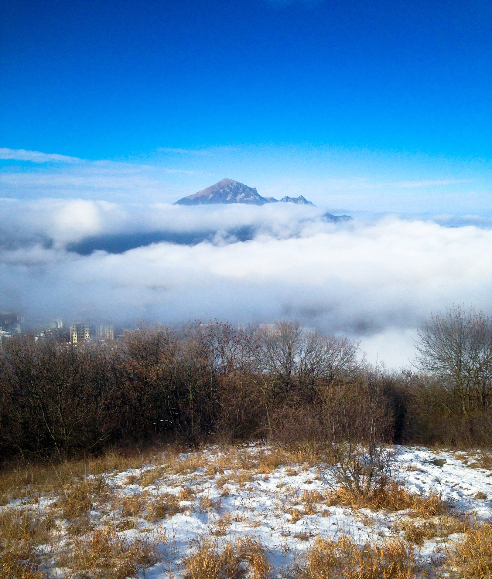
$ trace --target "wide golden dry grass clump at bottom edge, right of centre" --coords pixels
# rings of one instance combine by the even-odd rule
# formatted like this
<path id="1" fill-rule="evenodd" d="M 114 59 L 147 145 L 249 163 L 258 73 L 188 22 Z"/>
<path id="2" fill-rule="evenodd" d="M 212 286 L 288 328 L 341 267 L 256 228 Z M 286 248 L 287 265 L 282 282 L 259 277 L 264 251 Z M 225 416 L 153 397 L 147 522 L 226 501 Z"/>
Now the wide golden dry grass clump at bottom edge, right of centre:
<path id="1" fill-rule="evenodd" d="M 410 579 L 416 577 L 413 550 L 401 539 L 358 547 L 348 537 L 319 537 L 306 555 L 298 579 Z"/>

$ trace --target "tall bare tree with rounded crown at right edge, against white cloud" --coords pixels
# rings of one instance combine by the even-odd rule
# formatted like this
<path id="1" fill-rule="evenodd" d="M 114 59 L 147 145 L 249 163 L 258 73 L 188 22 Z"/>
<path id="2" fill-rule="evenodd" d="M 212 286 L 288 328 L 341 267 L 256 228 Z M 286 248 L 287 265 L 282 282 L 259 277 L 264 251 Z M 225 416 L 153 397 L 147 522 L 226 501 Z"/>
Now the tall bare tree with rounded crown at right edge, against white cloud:
<path id="1" fill-rule="evenodd" d="M 416 367 L 439 379 L 457 398 L 465 417 L 490 404 L 492 319 L 455 306 L 431 316 L 418 331 Z"/>

